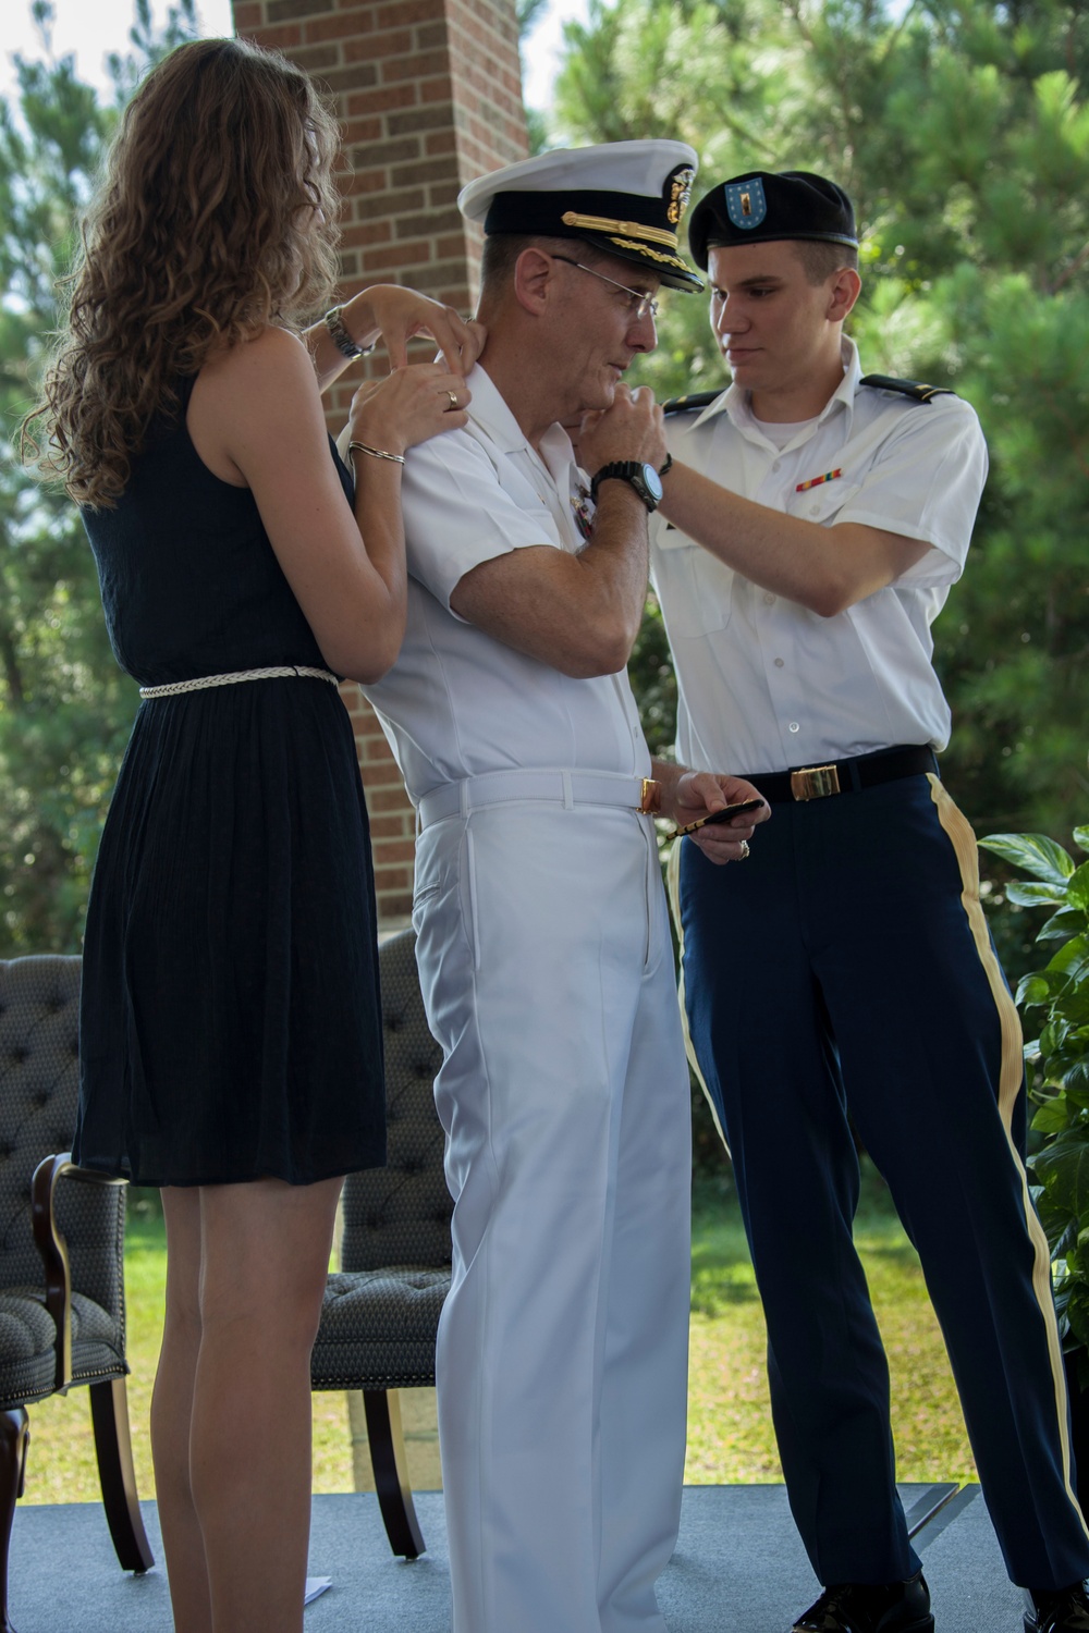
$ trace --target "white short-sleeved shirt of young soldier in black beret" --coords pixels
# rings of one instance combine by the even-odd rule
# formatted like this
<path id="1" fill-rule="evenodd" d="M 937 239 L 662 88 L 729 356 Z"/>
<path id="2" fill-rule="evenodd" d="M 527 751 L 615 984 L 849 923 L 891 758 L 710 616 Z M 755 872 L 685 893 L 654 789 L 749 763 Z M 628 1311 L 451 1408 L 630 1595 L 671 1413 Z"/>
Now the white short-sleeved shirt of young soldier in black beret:
<path id="1" fill-rule="evenodd" d="M 651 519 L 651 573 L 678 668 L 678 756 L 704 771 L 785 771 L 900 743 L 949 741 L 931 624 L 960 576 L 986 478 L 980 423 L 958 397 L 918 403 L 859 385 L 854 341 L 823 412 L 779 449 L 730 385 L 669 415 L 674 459 L 805 521 L 865 523 L 931 549 L 893 585 L 820 617 Z M 834 480 L 803 488 L 833 470 Z"/>

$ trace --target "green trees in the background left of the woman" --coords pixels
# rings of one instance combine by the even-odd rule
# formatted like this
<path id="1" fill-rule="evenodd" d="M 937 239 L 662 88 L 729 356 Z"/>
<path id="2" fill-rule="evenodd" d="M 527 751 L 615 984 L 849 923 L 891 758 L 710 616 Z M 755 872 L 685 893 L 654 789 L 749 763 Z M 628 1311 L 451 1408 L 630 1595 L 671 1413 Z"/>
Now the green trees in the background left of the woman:
<path id="1" fill-rule="evenodd" d="M 137 707 L 118 668 L 83 527 L 38 487 L 11 439 L 57 325 L 57 279 L 124 101 L 150 60 L 196 33 L 193 0 L 155 34 L 137 0 L 131 51 L 111 59 L 113 105 L 49 57 L 18 62 L 0 103 L 0 957 L 78 952 L 98 836 Z"/>

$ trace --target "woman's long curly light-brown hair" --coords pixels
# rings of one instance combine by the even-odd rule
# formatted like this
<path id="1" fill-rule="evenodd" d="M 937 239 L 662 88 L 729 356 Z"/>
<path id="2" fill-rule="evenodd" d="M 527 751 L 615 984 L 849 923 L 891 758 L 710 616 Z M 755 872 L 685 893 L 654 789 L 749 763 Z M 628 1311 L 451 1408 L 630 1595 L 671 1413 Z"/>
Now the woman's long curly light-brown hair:
<path id="1" fill-rule="evenodd" d="M 336 281 L 338 131 L 310 80 L 238 39 L 178 46 L 124 111 L 82 232 L 67 328 L 24 446 L 113 508 L 176 380 L 297 325 Z M 46 436 L 44 456 L 29 428 Z"/>

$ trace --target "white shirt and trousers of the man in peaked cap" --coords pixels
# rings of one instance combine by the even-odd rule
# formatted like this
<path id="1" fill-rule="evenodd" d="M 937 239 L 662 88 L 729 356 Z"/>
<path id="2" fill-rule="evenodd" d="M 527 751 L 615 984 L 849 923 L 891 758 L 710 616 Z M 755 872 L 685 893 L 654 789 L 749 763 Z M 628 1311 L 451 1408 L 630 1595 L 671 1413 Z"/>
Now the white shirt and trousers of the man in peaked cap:
<path id="1" fill-rule="evenodd" d="M 456 1199 L 436 1346 L 452 1626 L 665 1633 L 691 1089 L 635 810 L 650 754 L 624 671 L 571 679 L 449 609 L 480 562 L 581 545 L 567 434 L 537 454 L 483 369 L 469 385 L 470 425 L 408 451 L 408 632 L 367 687 L 411 797 L 464 797 L 423 823 L 413 901 Z M 518 787 L 526 768 L 630 777 L 629 808 L 490 800 L 488 772 Z"/>

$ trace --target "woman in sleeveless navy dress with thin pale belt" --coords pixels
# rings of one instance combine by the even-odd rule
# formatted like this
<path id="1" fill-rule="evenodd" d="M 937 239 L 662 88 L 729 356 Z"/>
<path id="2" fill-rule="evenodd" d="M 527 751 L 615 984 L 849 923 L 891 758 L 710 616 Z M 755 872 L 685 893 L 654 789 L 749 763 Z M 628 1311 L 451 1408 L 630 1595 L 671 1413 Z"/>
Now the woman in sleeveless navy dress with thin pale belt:
<path id="1" fill-rule="evenodd" d="M 127 108 L 44 387 L 140 705 L 88 910 L 77 1159 L 162 1186 L 152 1406 L 178 1633 L 297 1633 L 310 1349 L 341 1177 L 384 1159 L 374 887 L 336 678 L 405 627 L 405 447 L 465 421 L 478 335 L 335 268 L 305 75 L 181 46 Z M 426 330 L 446 358 L 405 366 Z M 384 335 L 349 472 L 320 389 Z M 354 483 L 353 483 L 354 475 Z"/>

